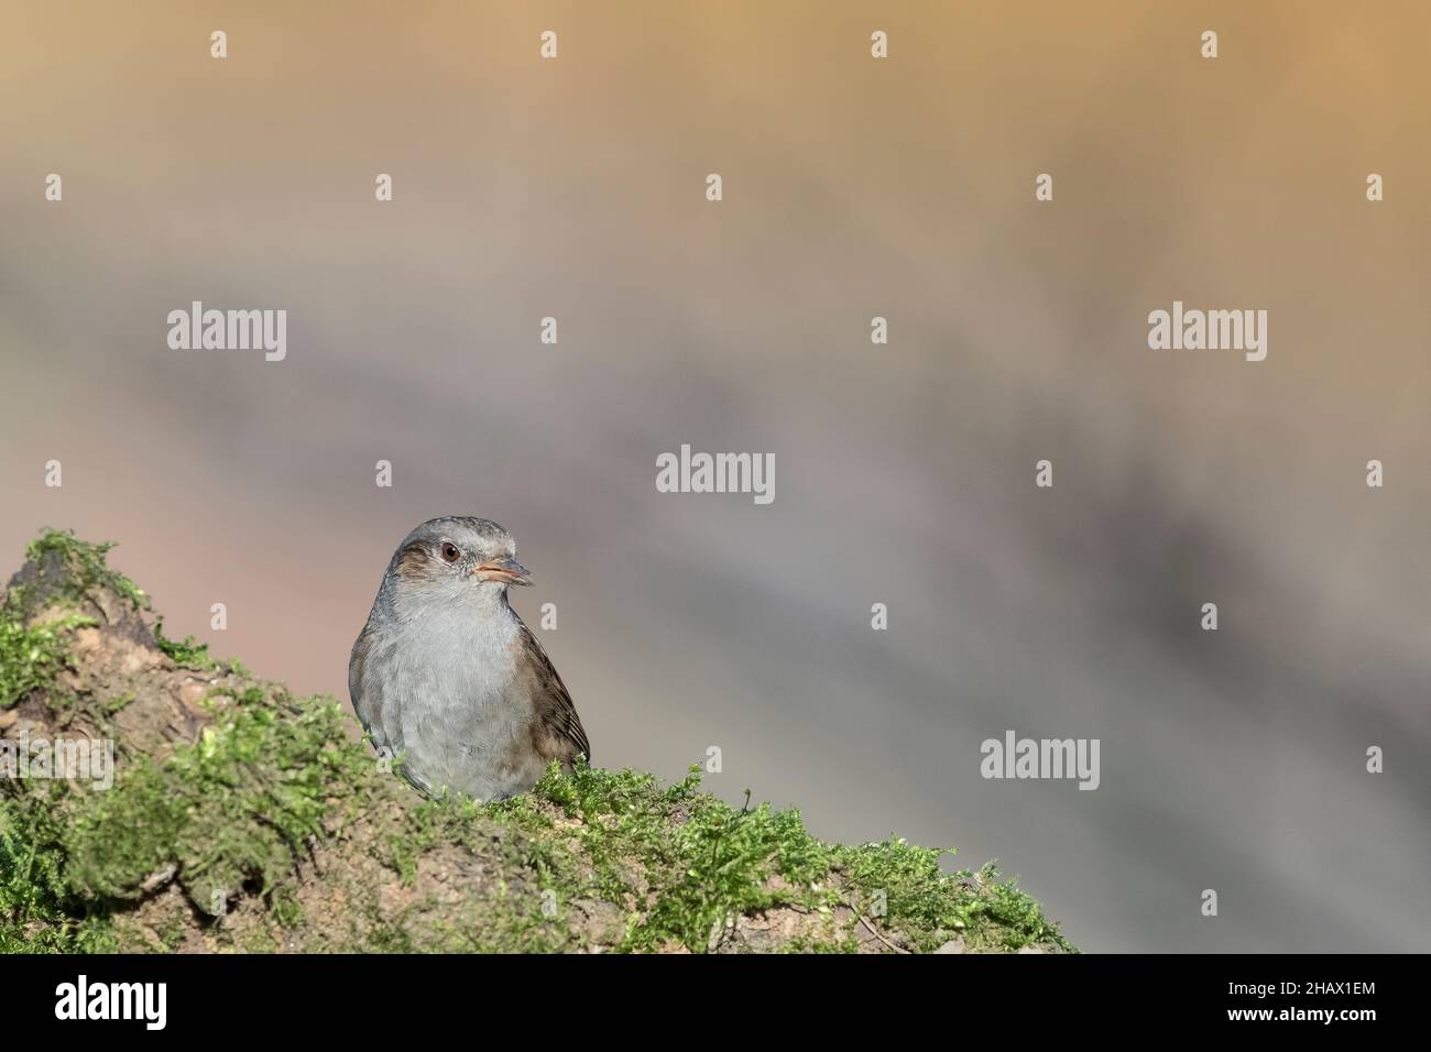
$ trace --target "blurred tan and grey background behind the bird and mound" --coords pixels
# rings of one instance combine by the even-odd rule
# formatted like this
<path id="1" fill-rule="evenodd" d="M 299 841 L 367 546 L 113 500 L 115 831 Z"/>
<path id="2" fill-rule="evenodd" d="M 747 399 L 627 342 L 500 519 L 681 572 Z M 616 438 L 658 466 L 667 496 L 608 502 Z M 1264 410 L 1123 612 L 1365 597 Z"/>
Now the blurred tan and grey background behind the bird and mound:
<path id="1" fill-rule="evenodd" d="M 718 746 L 1086 950 L 1428 949 L 1424 4 L 0 14 L 4 575 L 119 540 L 169 634 L 346 700 L 402 535 L 495 518 L 601 766 Z M 288 359 L 170 351 L 195 299 Z M 1266 309 L 1266 361 L 1149 351 L 1173 299 Z M 774 504 L 657 492 L 683 442 Z M 983 780 L 1006 729 L 1102 786 Z"/>

